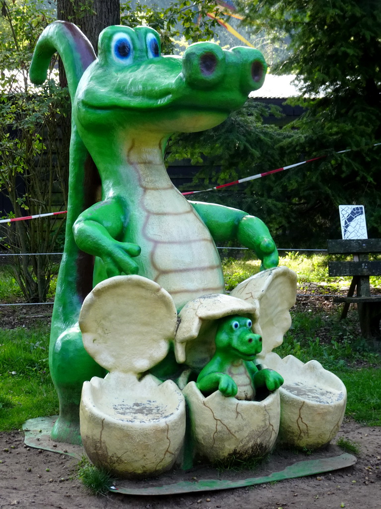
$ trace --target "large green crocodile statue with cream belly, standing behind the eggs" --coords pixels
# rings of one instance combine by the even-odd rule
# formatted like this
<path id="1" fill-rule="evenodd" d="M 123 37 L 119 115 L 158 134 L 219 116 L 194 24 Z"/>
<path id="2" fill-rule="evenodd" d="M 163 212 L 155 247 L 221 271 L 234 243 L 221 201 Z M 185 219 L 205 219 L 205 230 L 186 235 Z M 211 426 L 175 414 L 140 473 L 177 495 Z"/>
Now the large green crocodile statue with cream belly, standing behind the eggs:
<path id="1" fill-rule="evenodd" d="M 262 54 L 203 42 L 190 45 L 182 57 L 162 56 L 160 38 L 148 26 L 108 26 L 98 47 L 97 58 L 75 25 L 56 21 L 40 36 L 29 72 L 31 81 L 43 83 L 58 51 L 72 100 L 66 243 L 49 349 L 60 404 L 52 438 L 72 443 L 81 441 L 82 384 L 104 376 L 78 327 L 93 286 L 139 273 L 165 288 L 180 310 L 196 297 L 224 293 L 215 241 L 238 240 L 256 252 L 262 269 L 278 264 L 260 219 L 188 202 L 163 161 L 174 132 L 218 125 L 262 86 Z"/>

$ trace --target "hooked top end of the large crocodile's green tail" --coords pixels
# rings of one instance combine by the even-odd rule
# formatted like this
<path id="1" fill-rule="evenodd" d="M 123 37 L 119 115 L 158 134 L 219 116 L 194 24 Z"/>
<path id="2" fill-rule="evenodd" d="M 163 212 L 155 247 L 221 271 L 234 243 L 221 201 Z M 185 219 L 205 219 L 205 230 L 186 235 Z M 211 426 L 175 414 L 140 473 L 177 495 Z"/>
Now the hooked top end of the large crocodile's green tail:
<path id="1" fill-rule="evenodd" d="M 68 79 L 70 97 L 74 98 L 85 69 L 96 59 L 90 41 L 79 28 L 68 21 L 54 21 L 37 41 L 29 69 L 31 82 L 40 85 L 47 77 L 50 60 L 59 53 Z"/>

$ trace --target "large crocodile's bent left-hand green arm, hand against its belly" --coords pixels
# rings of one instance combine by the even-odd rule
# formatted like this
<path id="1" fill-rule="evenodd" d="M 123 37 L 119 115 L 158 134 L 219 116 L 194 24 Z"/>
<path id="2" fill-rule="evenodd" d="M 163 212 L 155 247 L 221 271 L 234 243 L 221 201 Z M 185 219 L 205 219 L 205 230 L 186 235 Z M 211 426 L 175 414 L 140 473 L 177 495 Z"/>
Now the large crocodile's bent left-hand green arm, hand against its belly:
<path id="1" fill-rule="evenodd" d="M 74 223 L 76 244 L 82 251 L 102 259 L 108 277 L 138 272 L 132 258 L 140 254 L 140 247 L 116 240 L 125 231 L 128 216 L 124 201 L 114 196 L 86 209 Z"/>

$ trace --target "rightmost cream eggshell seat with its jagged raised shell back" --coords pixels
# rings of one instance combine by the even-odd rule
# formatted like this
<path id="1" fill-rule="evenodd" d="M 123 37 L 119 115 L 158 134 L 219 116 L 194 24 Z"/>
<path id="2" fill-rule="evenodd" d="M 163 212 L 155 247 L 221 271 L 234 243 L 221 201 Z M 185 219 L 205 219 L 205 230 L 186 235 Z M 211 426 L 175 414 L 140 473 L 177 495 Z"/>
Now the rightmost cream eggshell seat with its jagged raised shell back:
<path id="1" fill-rule="evenodd" d="M 279 440 L 298 447 L 318 448 L 338 432 L 346 405 L 342 381 L 311 360 L 303 363 L 293 355 L 281 359 L 272 352 L 290 328 L 289 308 L 296 300 L 296 274 L 287 267 L 270 269 L 240 283 L 231 293 L 246 302 L 259 302 L 259 326 L 264 366 L 284 378 L 280 393 Z"/>

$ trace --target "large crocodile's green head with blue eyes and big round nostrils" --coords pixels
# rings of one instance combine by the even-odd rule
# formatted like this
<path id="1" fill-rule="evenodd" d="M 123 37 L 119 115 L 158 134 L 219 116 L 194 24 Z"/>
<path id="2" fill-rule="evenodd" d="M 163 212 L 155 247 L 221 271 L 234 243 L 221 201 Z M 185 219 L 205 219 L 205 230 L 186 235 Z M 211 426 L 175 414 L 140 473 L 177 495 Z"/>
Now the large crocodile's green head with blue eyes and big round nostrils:
<path id="1" fill-rule="evenodd" d="M 242 106 L 265 74 L 256 49 L 201 42 L 182 57 L 163 56 L 153 29 L 109 26 L 79 82 L 74 111 L 85 129 L 128 123 L 165 134 L 200 131 Z"/>

